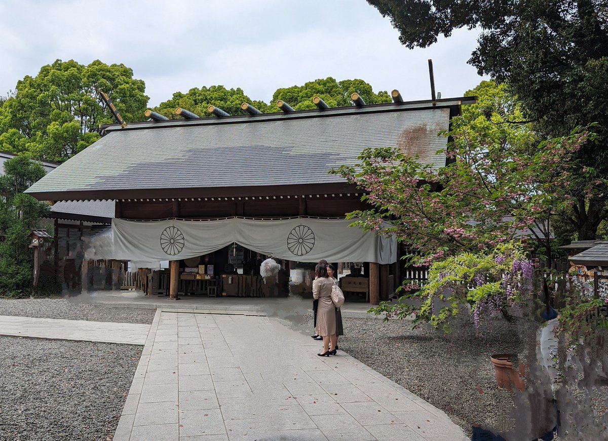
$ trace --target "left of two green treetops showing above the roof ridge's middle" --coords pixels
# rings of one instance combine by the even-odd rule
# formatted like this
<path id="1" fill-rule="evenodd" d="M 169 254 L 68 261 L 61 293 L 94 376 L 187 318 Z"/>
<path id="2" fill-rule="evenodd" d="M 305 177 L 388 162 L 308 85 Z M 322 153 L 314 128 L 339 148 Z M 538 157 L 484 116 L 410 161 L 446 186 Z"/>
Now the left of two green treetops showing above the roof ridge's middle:
<path id="1" fill-rule="evenodd" d="M 246 112 L 241 109 L 241 104 L 252 104 L 260 112 L 266 112 L 268 105 L 263 101 L 252 101 L 244 94 L 243 89 L 226 89 L 224 86 L 193 87 L 186 94 L 175 92 L 173 98 L 164 101 L 154 108 L 155 112 L 167 118 L 178 118 L 175 114 L 176 108 L 186 109 L 199 117 L 213 116 L 208 108 L 216 106 L 230 115 L 243 115 Z"/>

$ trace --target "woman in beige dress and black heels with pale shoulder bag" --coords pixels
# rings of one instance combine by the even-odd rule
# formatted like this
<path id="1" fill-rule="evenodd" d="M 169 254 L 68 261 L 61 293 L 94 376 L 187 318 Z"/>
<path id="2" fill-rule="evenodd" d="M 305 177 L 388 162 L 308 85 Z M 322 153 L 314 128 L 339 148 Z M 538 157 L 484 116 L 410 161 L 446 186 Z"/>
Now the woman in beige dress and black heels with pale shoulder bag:
<path id="1" fill-rule="evenodd" d="M 313 298 L 319 299 L 317 306 L 317 335 L 323 337 L 323 352 L 320 357 L 329 357 L 336 354 L 336 307 L 331 301 L 331 287 L 334 283 L 327 274 L 327 265 L 318 264 L 314 268 L 317 278 L 313 282 Z"/>

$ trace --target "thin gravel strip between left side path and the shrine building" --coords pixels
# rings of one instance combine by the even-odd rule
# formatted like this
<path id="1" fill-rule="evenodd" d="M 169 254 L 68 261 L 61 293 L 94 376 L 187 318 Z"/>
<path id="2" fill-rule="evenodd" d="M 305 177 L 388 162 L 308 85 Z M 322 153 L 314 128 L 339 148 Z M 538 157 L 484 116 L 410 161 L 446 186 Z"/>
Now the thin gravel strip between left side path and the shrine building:
<path id="1" fill-rule="evenodd" d="M 155 309 L 109 308 L 67 299 L 2 299 L 0 315 L 152 324 Z"/>

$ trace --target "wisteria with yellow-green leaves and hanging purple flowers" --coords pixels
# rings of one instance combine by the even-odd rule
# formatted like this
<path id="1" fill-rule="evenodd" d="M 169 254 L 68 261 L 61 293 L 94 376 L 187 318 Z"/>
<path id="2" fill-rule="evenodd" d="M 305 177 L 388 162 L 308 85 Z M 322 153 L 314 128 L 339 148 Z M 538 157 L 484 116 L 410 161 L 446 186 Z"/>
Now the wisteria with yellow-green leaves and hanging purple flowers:
<path id="1" fill-rule="evenodd" d="M 369 310 L 389 318 L 414 315 L 413 326 L 420 322 L 450 330 L 450 320 L 461 310 L 473 312 L 475 327 L 486 318 L 511 320 L 530 310 L 534 303 L 533 264 L 527 260 L 519 241 L 498 245 L 489 253 L 460 253 L 434 262 L 429 280 L 415 292 L 396 303 L 381 302 Z M 526 306 L 528 308 L 524 308 Z"/>

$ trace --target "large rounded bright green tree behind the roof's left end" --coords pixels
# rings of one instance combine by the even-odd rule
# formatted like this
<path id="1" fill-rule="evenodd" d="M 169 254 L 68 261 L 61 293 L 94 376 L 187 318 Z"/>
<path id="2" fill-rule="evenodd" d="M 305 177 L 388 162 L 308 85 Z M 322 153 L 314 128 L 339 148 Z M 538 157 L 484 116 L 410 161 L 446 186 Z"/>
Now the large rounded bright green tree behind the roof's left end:
<path id="1" fill-rule="evenodd" d="M 115 122 L 99 91 L 109 95 L 125 121 L 145 118 L 145 84 L 129 67 L 57 60 L 36 77 L 18 81 L 15 94 L 4 100 L 0 148 L 42 160 L 69 159 L 100 137 L 100 124 Z"/>

